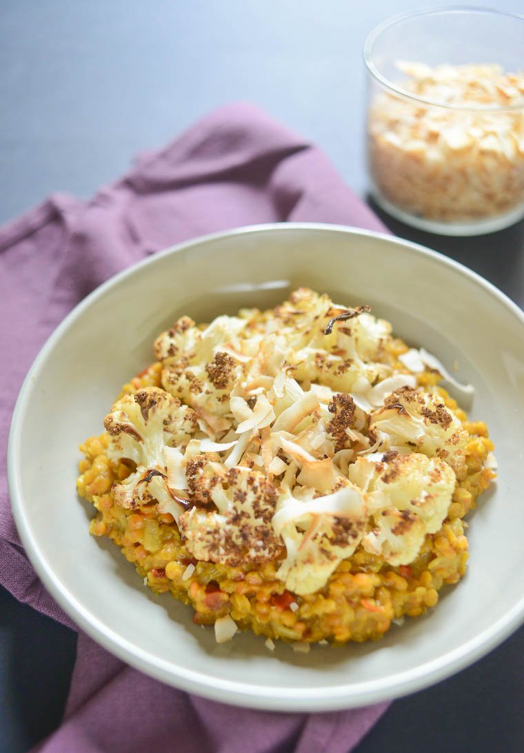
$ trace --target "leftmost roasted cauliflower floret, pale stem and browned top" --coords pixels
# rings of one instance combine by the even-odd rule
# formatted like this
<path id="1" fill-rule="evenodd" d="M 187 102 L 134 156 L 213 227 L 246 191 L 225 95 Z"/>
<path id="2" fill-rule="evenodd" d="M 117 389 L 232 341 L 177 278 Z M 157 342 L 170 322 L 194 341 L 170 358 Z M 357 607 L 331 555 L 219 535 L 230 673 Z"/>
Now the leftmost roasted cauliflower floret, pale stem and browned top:
<path id="1" fill-rule="evenodd" d="M 112 487 L 117 505 L 136 508 L 172 500 L 165 450 L 190 441 L 198 428 L 196 413 L 163 389 L 146 387 L 117 400 L 104 425 L 110 437 L 108 458 L 136 464 L 134 473 Z"/>

